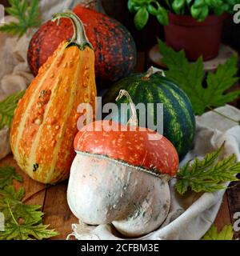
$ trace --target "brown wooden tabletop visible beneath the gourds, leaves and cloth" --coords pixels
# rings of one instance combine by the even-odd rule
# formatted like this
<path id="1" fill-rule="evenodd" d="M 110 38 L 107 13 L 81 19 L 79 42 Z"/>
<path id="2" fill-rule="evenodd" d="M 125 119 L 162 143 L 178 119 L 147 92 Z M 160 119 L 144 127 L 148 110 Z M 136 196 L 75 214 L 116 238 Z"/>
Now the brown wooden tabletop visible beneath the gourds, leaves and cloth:
<path id="1" fill-rule="evenodd" d="M 66 202 L 67 181 L 56 186 L 46 188 L 45 185 L 34 182 L 26 174 L 24 174 L 14 161 L 12 154 L 0 161 L 0 166 L 14 166 L 18 174 L 22 175 L 23 183 L 14 182 L 16 188 L 24 186 L 27 204 L 36 204 L 42 206 L 45 213 L 44 223 L 50 224 L 51 229 L 57 230 L 60 234 L 52 239 L 66 239 L 67 234 L 71 233 L 71 224 L 78 223 L 78 219 L 70 212 Z M 221 209 L 215 220 L 218 229 L 221 230 L 226 224 L 234 223 L 234 213 L 240 212 L 240 183 L 231 184 L 231 188 L 227 190 L 223 200 Z M 41 192 L 35 194 L 41 190 Z M 30 197 L 31 195 L 34 195 Z M 235 232 L 235 238 L 240 238 L 240 232 Z"/>

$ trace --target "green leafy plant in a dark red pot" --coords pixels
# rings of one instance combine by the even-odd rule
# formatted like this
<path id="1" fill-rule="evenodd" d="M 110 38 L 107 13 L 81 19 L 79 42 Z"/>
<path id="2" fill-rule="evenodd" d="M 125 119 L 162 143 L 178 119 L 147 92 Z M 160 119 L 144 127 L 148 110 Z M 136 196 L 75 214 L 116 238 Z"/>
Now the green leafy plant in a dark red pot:
<path id="1" fill-rule="evenodd" d="M 135 13 L 134 24 L 142 30 L 154 15 L 164 26 L 167 45 L 185 50 L 195 61 L 202 55 L 209 60 L 218 55 L 222 24 L 238 0 L 129 0 L 128 9 Z"/>

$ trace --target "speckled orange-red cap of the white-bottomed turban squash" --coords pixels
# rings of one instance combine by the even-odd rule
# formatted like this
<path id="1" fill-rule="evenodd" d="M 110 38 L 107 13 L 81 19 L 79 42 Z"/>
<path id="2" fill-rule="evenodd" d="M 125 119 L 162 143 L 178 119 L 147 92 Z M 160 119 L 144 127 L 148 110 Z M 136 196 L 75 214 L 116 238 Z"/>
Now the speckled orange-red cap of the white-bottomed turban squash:
<path id="1" fill-rule="evenodd" d="M 78 152 L 100 154 L 131 166 L 168 174 L 178 172 L 178 153 L 174 145 L 154 130 L 139 126 L 122 126 L 119 122 L 98 120 L 82 127 L 74 139 Z M 101 130 L 101 132 L 99 132 Z"/>

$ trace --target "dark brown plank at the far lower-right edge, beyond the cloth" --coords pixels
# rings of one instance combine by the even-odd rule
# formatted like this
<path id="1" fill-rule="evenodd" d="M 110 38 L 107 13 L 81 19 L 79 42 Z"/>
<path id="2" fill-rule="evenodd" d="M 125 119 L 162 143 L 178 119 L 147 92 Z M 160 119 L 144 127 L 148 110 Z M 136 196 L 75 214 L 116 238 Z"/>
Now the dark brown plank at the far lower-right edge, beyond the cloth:
<path id="1" fill-rule="evenodd" d="M 240 174 L 238 174 L 238 178 L 240 178 Z M 234 224 L 236 221 L 234 214 L 240 212 L 240 182 L 232 182 L 230 186 L 231 189 L 227 190 L 226 193 L 230 209 L 230 218 Z M 240 238 L 240 231 L 235 232 L 235 238 Z"/>

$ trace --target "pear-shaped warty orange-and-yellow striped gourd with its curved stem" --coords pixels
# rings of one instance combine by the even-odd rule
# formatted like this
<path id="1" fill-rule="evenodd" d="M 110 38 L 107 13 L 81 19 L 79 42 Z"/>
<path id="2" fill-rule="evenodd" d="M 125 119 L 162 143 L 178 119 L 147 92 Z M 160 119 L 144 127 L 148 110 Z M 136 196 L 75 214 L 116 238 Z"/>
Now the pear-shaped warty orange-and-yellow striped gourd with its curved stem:
<path id="1" fill-rule="evenodd" d="M 94 50 L 82 22 L 71 12 L 74 37 L 64 41 L 39 70 L 18 102 L 10 130 L 10 146 L 18 166 L 38 182 L 68 178 L 78 133 L 78 105 L 95 104 Z"/>

